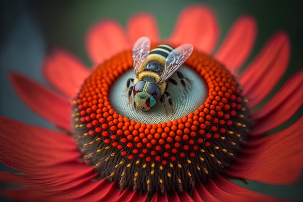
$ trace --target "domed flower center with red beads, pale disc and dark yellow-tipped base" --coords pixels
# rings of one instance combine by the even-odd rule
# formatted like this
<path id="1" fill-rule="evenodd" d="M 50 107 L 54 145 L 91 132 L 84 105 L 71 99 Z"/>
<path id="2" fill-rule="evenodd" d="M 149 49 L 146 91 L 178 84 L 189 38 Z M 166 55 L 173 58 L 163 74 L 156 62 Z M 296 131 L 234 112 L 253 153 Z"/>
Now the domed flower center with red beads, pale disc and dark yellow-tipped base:
<path id="1" fill-rule="evenodd" d="M 128 96 L 131 51 L 87 78 L 74 101 L 74 134 L 101 178 L 139 193 L 190 191 L 237 156 L 250 122 L 237 82 L 195 50 L 184 66 L 167 82 L 167 99 L 147 112 Z"/>

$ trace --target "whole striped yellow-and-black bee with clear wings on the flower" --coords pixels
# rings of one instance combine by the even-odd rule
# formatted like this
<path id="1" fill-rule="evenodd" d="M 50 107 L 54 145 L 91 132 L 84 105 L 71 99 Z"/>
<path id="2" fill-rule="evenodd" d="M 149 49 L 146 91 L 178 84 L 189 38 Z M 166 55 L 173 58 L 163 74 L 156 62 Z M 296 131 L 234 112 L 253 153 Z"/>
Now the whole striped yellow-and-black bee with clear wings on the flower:
<path id="1" fill-rule="evenodd" d="M 180 68 L 194 49 L 189 43 L 175 49 L 170 45 L 162 44 L 151 52 L 150 47 L 151 42 L 148 37 L 141 37 L 136 41 L 132 49 L 135 78 L 127 81 L 127 87 L 130 81 L 134 82 L 134 86 L 129 88 L 129 98 L 133 93 L 135 105 L 143 111 L 150 110 L 160 98 L 164 103 L 163 94 L 167 95 L 169 104 L 172 105 L 170 94 L 166 92 L 167 80 Z M 182 76 L 181 73 L 179 77 Z"/>

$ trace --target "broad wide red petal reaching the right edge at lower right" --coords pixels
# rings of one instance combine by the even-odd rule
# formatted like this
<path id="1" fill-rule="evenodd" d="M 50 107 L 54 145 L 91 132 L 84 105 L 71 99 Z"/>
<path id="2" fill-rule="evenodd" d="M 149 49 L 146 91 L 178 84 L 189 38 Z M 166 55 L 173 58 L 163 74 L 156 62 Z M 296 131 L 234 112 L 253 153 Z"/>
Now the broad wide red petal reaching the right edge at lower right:
<path id="1" fill-rule="evenodd" d="M 248 143 L 228 175 L 268 184 L 295 183 L 303 169 L 302 125 L 303 116 L 285 130 Z"/>

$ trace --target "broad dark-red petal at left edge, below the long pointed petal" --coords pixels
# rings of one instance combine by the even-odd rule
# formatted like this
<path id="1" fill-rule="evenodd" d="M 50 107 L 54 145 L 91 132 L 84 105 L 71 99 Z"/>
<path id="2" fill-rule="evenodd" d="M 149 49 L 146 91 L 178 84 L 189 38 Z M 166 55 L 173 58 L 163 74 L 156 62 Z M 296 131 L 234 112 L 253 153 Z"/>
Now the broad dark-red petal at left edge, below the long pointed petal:
<path id="1" fill-rule="evenodd" d="M 50 171 L 52 165 L 81 157 L 72 137 L 4 117 L 0 117 L 0 136 L 0 161 L 24 173 Z"/>

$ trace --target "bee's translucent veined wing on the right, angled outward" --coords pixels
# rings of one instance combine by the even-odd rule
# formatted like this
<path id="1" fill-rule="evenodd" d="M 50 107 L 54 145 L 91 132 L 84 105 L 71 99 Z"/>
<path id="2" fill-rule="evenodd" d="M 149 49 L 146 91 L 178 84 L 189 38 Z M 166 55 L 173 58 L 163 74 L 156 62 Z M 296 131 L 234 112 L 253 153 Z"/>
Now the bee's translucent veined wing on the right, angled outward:
<path id="1" fill-rule="evenodd" d="M 192 54 L 194 47 L 185 43 L 174 49 L 167 56 L 165 60 L 164 70 L 161 74 L 159 83 L 166 81 L 179 67 L 186 61 L 186 59 Z"/>

